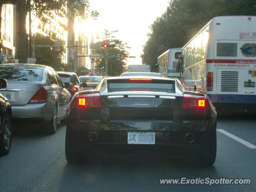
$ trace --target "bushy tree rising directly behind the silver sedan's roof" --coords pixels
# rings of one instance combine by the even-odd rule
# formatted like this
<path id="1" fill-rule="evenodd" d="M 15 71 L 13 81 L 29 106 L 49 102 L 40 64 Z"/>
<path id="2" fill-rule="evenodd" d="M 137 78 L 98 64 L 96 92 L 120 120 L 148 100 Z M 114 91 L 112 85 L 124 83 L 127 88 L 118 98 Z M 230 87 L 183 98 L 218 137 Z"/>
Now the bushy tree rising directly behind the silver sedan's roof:
<path id="1" fill-rule="evenodd" d="M 64 45 L 64 42 L 59 40 L 61 45 Z M 36 34 L 35 36 L 36 45 L 54 45 L 54 40 L 49 36 L 42 36 L 41 34 Z M 43 64 L 51 66 L 55 70 L 66 70 L 66 67 L 62 63 L 62 56 L 65 52 L 64 47 L 60 48 L 60 51 L 56 51 L 53 47 L 36 47 L 36 64 Z"/>

